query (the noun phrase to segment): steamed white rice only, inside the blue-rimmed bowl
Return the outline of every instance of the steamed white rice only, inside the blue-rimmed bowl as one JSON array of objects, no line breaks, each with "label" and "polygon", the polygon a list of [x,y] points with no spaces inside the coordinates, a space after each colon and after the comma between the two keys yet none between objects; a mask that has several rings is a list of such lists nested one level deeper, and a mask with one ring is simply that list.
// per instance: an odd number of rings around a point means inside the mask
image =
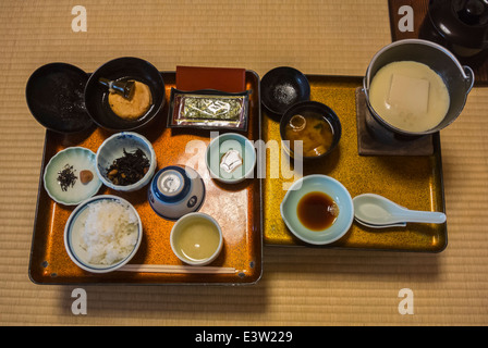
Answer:
[{"label": "steamed white rice only, inside the blue-rimmed bowl", "polygon": [[121,202],[101,200],[88,206],[81,247],[93,264],[110,265],[124,259],[137,243],[137,216]]}]

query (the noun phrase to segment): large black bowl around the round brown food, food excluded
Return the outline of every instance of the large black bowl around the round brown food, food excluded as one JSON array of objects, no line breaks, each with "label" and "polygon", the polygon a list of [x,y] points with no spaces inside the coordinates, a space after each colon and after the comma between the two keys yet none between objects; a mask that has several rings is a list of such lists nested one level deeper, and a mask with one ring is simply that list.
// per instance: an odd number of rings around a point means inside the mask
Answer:
[{"label": "large black bowl around the round brown food, food excluded", "polygon": [[[108,102],[108,87],[99,83],[105,77],[111,80],[135,79],[149,86],[152,105],[137,120],[119,117]],[[89,77],[85,88],[85,105],[95,123],[110,132],[134,130],[147,125],[164,104],[164,82],[161,73],[149,62],[123,57],[111,60],[98,67]]]}]

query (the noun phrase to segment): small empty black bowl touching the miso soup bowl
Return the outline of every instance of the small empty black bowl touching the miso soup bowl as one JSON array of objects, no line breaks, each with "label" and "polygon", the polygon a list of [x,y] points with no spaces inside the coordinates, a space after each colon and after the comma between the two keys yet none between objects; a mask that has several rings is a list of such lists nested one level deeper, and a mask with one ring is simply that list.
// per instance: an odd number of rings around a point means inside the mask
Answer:
[{"label": "small empty black bowl touching the miso soup bowl", "polygon": [[270,112],[282,115],[291,105],[310,98],[307,77],[294,67],[270,70],[261,78],[261,102]]}]

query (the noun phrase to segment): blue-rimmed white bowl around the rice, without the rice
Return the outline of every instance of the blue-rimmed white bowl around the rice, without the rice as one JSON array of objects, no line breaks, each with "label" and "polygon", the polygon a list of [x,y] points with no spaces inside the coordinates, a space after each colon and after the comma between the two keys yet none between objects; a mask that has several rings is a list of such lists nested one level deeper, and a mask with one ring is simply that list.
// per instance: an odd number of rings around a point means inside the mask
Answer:
[{"label": "blue-rimmed white bowl around the rice, without the rice", "polygon": [[[102,265],[102,264],[94,264],[88,262],[87,251],[82,248],[81,238],[83,236],[84,232],[84,224],[86,222],[87,215],[88,215],[88,207],[89,204],[102,201],[102,200],[111,200],[122,203],[123,206],[127,207],[129,210],[131,210],[135,217],[136,217],[136,225],[137,225],[137,236],[136,236],[136,243],[132,249],[132,251],[122,260],[110,264],[110,265]],[[134,209],[134,207],[126,201],[125,199],[122,199],[117,196],[112,195],[100,195],[91,197],[87,200],[85,200],[83,203],[81,203],[78,207],[76,207],[75,210],[71,213],[70,217],[68,219],[66,225],[64,227],[64,247],[66,248],[66,252],[70,256],[71,260],[78,265],[81,269],[91,272],[91,273],[108,273],[113,272],[124,264],[126,264],[137,252],[137,249],[141,246],[141,241],[143,239],[143,224],[141,222],[141,217],[137,213],[137,211]]]}]

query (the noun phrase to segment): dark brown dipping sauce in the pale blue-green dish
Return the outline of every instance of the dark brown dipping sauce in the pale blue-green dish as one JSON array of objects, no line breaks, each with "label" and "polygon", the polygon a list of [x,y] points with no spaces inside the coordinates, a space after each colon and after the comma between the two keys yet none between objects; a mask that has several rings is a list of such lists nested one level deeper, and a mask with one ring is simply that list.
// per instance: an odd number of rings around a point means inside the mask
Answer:
[{"label": "dark brown dipping sauce in the pale blue-green dish", "polygon": [[298,201],[300,222],[313,231],[330,227],[339,215],[339,207],[332,198],[319,191],[309,192]]}]

